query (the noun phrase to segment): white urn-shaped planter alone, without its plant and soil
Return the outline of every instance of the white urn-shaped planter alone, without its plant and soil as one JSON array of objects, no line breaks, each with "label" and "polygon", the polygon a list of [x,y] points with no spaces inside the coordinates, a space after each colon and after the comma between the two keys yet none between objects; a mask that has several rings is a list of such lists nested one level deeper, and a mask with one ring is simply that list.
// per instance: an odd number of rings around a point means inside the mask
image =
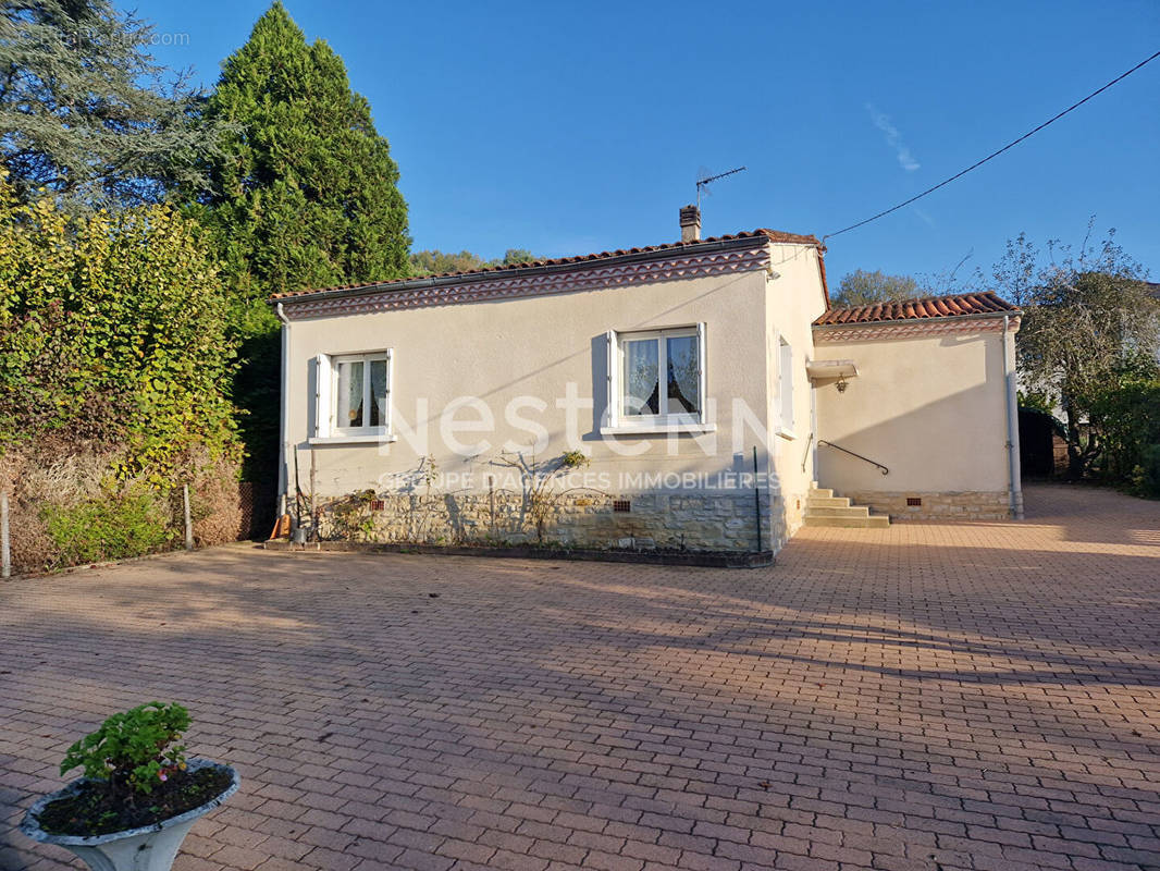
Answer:
[{"label": "white urn-shaped planter alone, without its plant and soil", "polygon": [[220,805],[238,791],[240,778],[238,772],[229,765],[223,765],[209,760],[190,760],[189,770],[196,771],[203,768],[217,768],[229,771],[232,783],[225,792],[212,801],[206,801],[201,807],[186,811],[183,814],[171,816],[168,820],[143,826],[137,829],[125,832],[110,832],[108,835],[93,835],[85,837],[81,835],[53,835],[41,828],[39,815],[50,801],[65,798],[75,792],[85,782],[84,778],[74,780],[58,792],[45,796],[28,813],[24,814],[20,823],[20,830],[34,841],[42,841],[46,844],[57,844],[66,850],[80,856],[93,871],[169,871],[173,859],[181,849],[181,842],[186,840],[189,829],[194,823],[215,807]]}]

